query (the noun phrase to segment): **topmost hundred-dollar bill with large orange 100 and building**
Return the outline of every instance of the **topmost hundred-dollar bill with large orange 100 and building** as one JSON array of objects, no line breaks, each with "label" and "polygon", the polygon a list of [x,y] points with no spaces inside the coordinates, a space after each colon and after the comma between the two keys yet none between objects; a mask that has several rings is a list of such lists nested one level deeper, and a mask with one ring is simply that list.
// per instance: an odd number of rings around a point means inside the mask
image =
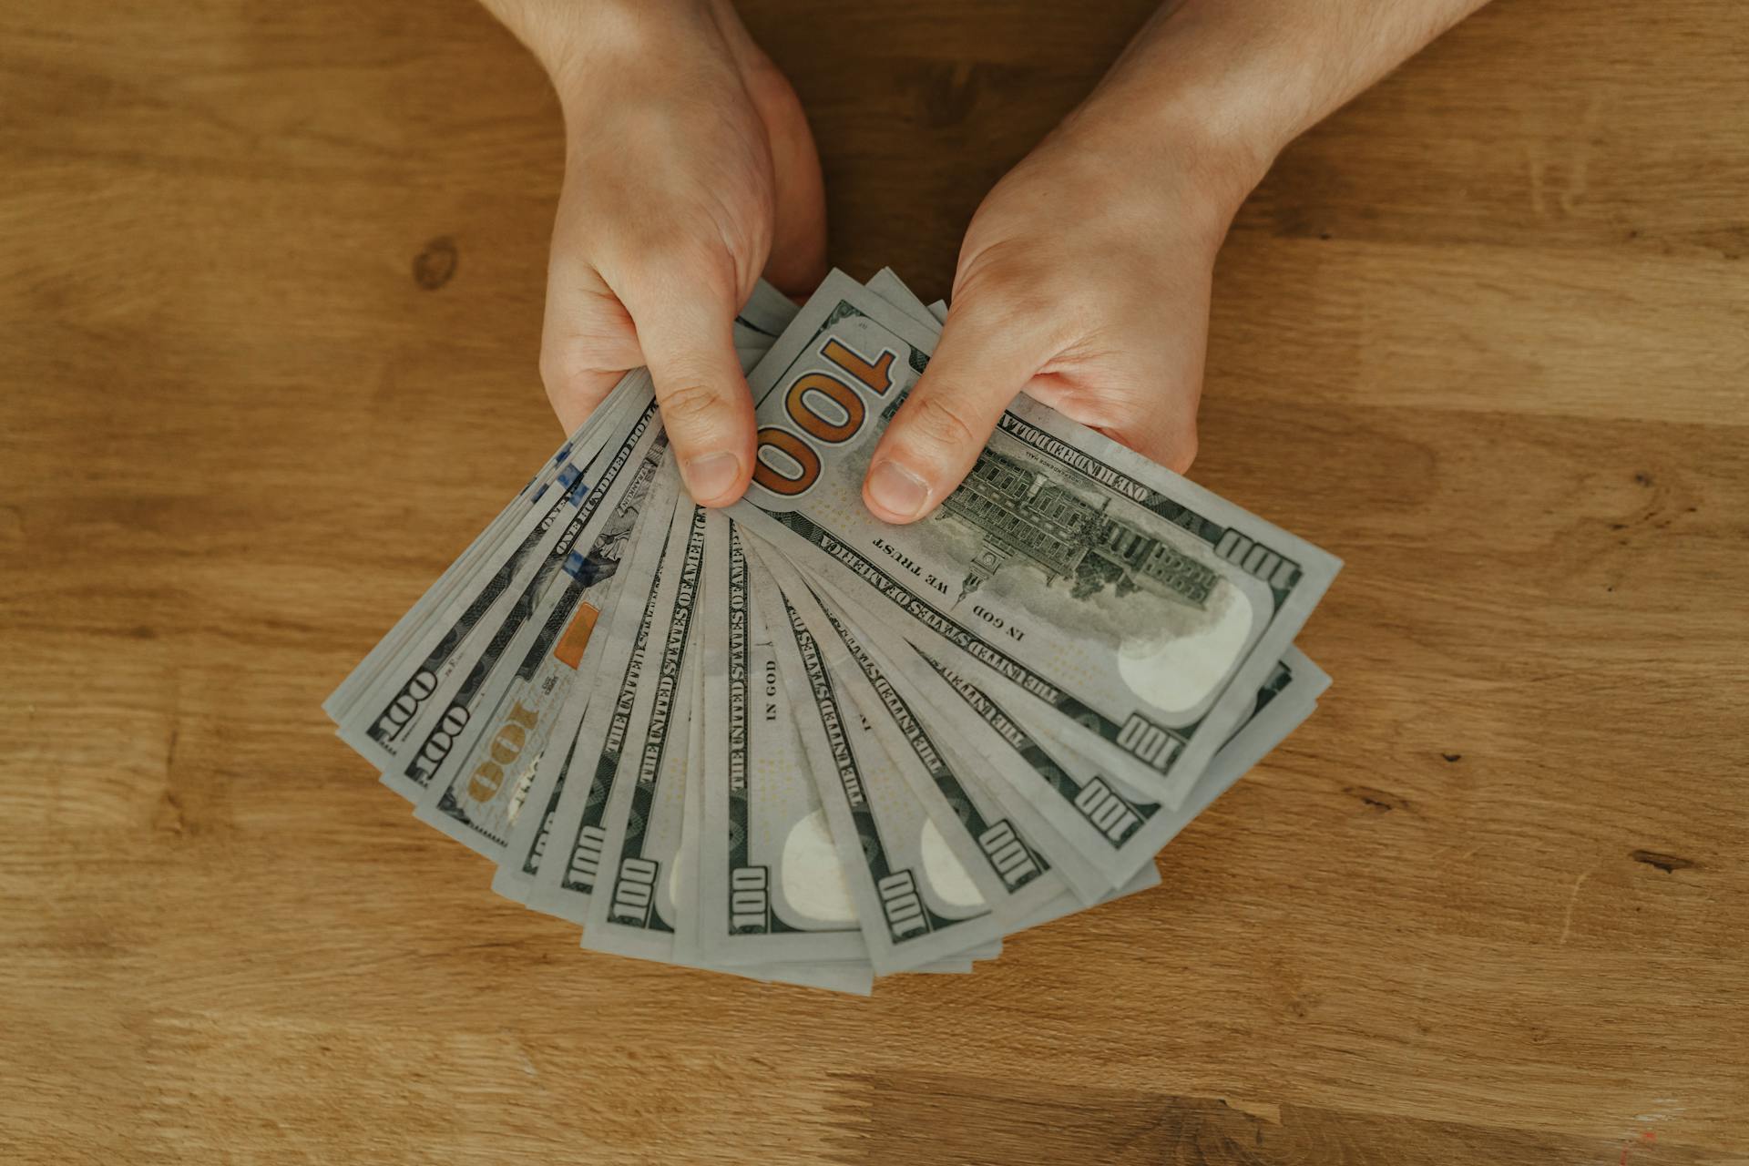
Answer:
[{"label": "topmost hundred-dollar bill with large orange 100 and building", "polygon": [[868,455],[932,346],[922,322],[829,276],[750,376],[759,463],[731,514],[1182,801],[1340,563],[1025,399],[936,516],[876,521]]}]

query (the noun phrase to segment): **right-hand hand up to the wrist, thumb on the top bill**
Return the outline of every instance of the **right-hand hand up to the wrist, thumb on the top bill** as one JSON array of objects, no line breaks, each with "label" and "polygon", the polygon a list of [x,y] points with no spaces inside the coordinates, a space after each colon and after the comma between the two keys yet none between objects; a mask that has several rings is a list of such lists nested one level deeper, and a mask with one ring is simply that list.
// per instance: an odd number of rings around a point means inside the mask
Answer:
[{"label": "right-hand hand up to the wrist, thumb on the top bill", "polygon": [[941,343],[869,460],[869,510],[934,510],[1020,392],[1189,468],[1214,257],[1256,177],[1205,135],[1091,101],[1065,121],[972,215]]}]

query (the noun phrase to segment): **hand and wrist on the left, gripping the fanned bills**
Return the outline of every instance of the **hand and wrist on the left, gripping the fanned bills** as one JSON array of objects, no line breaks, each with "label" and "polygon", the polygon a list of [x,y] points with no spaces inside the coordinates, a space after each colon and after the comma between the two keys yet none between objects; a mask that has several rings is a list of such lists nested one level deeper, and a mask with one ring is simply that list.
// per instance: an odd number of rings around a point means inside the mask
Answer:
[{"label": "hand and wrist on the left, gripping the fanned bills", "polygon": [[486,0],[565,110],[540,378],[565,430],[649,365],[701,505],[742,496],[754,406],[731,322],[761,271],[808,292],[826,199],[794,89],[728,0]]}]

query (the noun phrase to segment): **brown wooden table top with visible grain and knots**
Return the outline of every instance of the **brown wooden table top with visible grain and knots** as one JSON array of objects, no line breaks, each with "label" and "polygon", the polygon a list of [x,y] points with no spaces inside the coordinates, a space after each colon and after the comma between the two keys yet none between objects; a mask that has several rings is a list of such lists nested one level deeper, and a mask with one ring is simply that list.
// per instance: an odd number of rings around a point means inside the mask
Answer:
[{"label": "brown wooden table top with visible grain and knots", "polygon": [[[946,290],[1151,0],[749,3]],[[318,704],[556,444],[463,0],[0,17],[0,1159],[1749,1161],[1749,21],[1501,0],[1223,255],[1196,477],[1347,572],[1165,886],[873,1000],[582,953]]]}]

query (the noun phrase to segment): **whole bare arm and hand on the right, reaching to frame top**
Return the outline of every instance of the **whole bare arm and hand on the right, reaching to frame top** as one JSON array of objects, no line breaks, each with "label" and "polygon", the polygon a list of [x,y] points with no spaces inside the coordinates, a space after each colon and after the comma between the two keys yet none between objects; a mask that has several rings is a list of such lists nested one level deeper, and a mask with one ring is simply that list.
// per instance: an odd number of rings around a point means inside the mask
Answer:
[{"label": "whole bare arm and hand on the right, reaching to frame top", "polygon": [[1196,453],[1214,257],[1300,133],[1485,0],[1182,0],[972,217],[941,344],[869,465],[936,509],[1027,392],[1175,470]]}]

